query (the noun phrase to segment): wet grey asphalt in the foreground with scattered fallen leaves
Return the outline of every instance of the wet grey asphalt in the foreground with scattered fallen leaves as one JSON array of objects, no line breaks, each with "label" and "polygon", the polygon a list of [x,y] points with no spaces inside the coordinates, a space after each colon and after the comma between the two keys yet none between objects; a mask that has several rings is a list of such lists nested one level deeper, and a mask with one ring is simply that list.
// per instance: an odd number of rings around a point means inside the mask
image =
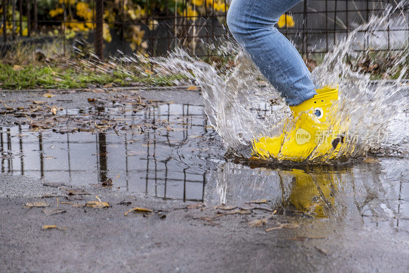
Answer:
[{"label": "wet grey asphalt in the foreground with scattered fallen leaves", "polygon": [[[150,95],[152,99],[186,99],[180,93]],[[87,98],[99,95],[66,96],[71,97],[70,102],[59,105],[69,108],[85,107]],[[15,94],[12,99],[17,103],[24,97]],[[190,97],[199,99],[198,95]],[[54,102],[59,103],[57,99]],[[44,185],[47,182],[55,184]],[[271,203],[242,200],[223,209],[213,203],[155,198],[98,184],[62,184],[29,175],[0,174],[0,271],[409,270],[409,232],[396,226],[379,228],[314,218],[283,212]],[[86,195],[69,195],[73,189]],[[110,206],[84,206],[98,200]],[[64,212],[47,216],[43,207],[25,207],[28,202],[40,201]],[[134,207],[152,212],[124,215]],[[44,229],[44,225],[58,229]]]}]

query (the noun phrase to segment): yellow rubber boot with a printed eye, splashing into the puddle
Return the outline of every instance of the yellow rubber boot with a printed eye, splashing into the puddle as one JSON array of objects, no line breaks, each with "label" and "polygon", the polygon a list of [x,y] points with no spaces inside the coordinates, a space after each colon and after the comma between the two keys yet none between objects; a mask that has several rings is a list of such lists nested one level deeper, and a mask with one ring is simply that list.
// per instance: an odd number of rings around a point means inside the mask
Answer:
[{"label": "yellow rubber boot with a printed eye, splashing into the puddle", "polygon": [[[303,161],[307,158],[332,158],[339,152],[339,124],[329,120],[338,89],[316,90],[317,95],[298,106],[290,107],[294,119],[280,136],[261,137],[253,143],[253,156],[267,159]],[[291,125],[292,124],[292,125]]]}]

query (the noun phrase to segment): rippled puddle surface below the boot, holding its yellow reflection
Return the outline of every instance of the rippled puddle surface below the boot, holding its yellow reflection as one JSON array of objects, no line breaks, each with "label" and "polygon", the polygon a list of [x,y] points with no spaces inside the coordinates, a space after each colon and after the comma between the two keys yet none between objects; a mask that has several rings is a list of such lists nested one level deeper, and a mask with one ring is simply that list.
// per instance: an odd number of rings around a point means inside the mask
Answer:
[{"label": "rippled puddle surface below the boot, holding its yellow reflection", "polygon": [[207,184],[205,198],[226,204],[267,199],[284,213],[409,227],[407,163],[390,158],[353,167],[273,170],[225,162],[214,176],[216,182]]}]

